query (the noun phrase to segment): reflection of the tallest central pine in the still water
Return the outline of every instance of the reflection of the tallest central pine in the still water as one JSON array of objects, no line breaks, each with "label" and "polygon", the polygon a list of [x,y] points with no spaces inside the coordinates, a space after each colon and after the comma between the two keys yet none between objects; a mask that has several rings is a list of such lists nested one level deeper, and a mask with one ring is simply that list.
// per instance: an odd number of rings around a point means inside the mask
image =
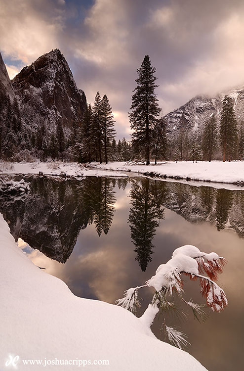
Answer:
[{"label": "reflection of the tallest central pine in the still water", "polygon": [[143,272],[147,265],[152,261],[153,237],[156,228],[159,226],[157,220],[158,209],[153,193],[150,190],[149,179],[142,181],[141,186],[133,184],[130,191],[131,209],[129,213],[129,223],[131,239],[136,246],[136,260]]}]

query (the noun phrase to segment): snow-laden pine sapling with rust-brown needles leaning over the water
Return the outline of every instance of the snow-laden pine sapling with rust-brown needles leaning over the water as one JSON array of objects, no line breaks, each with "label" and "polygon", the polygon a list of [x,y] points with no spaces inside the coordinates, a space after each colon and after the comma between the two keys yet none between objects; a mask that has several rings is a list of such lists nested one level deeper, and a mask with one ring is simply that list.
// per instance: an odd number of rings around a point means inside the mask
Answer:
[{"label": "snow-laden pine sapling with rust-brown needles leaning over the water", "polygon": [[[171,259],[166,264],[161,264],[158,267],[155,276],[146,281],[144,285],[126,290],[124,297],[117,300],[116,304],[135,314],[136,309],[140,307],[138,290],[143,287],[153,287],[155,291],[152,301],[140,317],[145,325],[151,327],[159,312],[165,314],[170,310],[177,311],[174,302],[170,301],[173,292],[192,309],[193,315],[198,321],[204,321],[206,315],[203,311],[203,305],[184,299],[181,275],[187,275],[192,280],[199,278],[201,293],[206,299],[206,304],[214,312],[220,312],[227,306],[228,301],[224,291],[215,281],[218,274],[222,273],[225,264],[226,260],[215,252],[207,254],[193,245],[181,246],[174,250]],[[186,336],[173,327],[167,326],[165,319],[162,329],[172,345],[179,348],[187,345]]]}]

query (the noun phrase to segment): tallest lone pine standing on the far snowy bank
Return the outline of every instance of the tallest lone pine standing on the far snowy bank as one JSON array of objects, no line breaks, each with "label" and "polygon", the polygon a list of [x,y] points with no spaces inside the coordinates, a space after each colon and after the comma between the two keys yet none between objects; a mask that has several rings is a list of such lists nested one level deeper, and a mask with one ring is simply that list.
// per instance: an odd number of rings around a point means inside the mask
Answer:
[{"label": "tallest lone pine standing on the far snowy bank", "polygon": [[150,150],[153,140],[153,129],[161,112],[155,89],[157,78],[154,76],[156,69],[152,67],[149,55],[137,70],[137,83],[132,95],[131,113],[129,114],[132,134],[132,145],[137,153],[143,153],[146,164],[150,164]]}]

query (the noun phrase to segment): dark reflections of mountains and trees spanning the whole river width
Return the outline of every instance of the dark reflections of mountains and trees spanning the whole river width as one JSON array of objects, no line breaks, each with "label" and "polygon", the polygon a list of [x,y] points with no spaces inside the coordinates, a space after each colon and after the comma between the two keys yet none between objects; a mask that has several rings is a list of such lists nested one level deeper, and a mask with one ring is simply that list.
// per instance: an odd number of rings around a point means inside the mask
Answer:
[{"label": "dark reflections of mountains and trees spanning the whole river width", "polygon": [[143,272],[152,261],[153,240],[164,219],[165,207],[190,222],[208,221],[218,231],[233,229],[244,236],[242,190],[196,187],[148,178],[89,177],[82,181],[27,178],[31,181],[31,193],[19,198],[1,198],[0,212],[16,240],[21,237],[58,262],[67,261],[80,230],[87,225],[93,224],[99,236],[108,234],[118,207],[116,186],[129,193],[127,222],[135,246],[135,260]]}]

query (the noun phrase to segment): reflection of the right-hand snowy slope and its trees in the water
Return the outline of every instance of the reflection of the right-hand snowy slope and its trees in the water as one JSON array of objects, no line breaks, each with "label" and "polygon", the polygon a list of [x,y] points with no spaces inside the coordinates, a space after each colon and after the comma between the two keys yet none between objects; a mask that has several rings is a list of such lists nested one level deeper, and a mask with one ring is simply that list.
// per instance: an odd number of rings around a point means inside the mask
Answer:
[{"label": "reflection of the right-hand snowy slope and its trees in the water", "polygon": [[189,222],[207,221],[218,230],[233,229],[244,237],[244,190],[231,191],[208,186],[167,183],[164,204]]}]

